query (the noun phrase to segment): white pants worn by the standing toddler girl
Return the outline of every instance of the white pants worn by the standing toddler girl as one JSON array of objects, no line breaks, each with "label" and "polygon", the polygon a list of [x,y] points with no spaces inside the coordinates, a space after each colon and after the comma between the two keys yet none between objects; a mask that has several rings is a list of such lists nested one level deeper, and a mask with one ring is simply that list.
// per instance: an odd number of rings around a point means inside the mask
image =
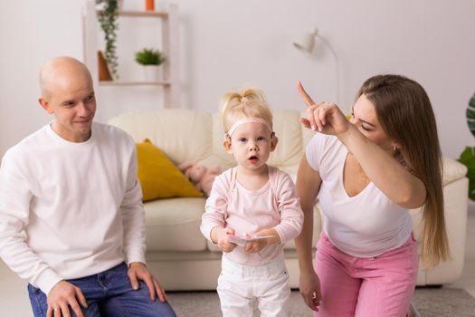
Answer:
[{"label": "white pants worn by the standing toddler girl", "polygon": [[283,258],[247,266],[223,256],[217,291],[223,317],[252,317],[255,301],[262,317],[289,316],[289,274]]}]

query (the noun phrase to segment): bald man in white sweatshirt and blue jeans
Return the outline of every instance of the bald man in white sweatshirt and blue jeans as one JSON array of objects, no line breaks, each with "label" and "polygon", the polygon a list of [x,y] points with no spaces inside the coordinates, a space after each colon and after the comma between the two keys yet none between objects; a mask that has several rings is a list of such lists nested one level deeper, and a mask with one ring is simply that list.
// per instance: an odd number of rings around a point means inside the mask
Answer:
[{"label": "bald man in white sweatshirt and blue jeans", "polygon": [[134,141],[93,122],[82,62],[47,62],[40,87],[54,119],[0,166],[0,256],[28,280],[34,316],[175,316],[145,265]]}]

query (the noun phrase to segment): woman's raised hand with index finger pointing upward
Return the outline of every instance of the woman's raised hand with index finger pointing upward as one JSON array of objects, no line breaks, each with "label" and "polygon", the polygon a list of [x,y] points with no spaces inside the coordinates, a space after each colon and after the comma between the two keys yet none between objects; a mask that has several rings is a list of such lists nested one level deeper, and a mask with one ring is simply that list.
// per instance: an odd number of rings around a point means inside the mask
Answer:
[{"label": "woman's raised hand with index finger pointing upward", "polygon": [[335,136],[347,132],[351,123],[335,103],[324,101],[315,103],[301,82],[297,84],[297,90],[302,100],[307,104],[309,113],[309,119],[300,118],[299,120],[305,128]]}]

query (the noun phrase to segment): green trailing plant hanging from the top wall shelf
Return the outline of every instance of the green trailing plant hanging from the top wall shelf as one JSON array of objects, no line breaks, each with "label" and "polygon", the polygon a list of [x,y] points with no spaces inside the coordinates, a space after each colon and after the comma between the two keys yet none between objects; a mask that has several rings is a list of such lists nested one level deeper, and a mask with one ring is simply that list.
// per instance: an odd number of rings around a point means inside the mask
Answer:
[{"label": "green trailing plant hanging from the top wall shelf", "polygon": [[96,5],[100,5],[98,20],[100,28],[104,32],[104,40],[106,42],[104,50],[106,62],[116,79],[119,79],[119,72],[117,71],[119,63],[116,53],[117,30],[119,29],[117,21],[119,17],[118,2],[118,0],[96,0]]}]

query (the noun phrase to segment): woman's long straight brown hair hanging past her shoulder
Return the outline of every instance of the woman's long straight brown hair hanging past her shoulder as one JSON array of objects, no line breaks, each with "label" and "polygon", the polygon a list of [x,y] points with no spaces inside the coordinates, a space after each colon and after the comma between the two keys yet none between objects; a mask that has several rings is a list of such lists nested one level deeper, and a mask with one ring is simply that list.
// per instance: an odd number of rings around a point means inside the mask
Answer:
[{"label": "woman's long straight brown hair hanging past her shoulder", "polygon": [[411,172],[423,181],[427,197],[423,210],[422,258],[432,267],[450,258],[442,193],[442,152],[431,101],[423,87],[400,75],[369,78],[357,93],[375,105],[376,115],[390,139],[401,145]]}]

